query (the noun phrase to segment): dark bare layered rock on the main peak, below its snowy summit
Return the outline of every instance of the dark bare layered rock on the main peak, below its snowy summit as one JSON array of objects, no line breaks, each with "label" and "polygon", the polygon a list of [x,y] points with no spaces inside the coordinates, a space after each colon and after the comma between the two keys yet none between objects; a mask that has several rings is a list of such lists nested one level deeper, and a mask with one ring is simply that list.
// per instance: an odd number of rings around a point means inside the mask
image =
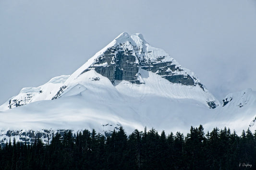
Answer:
[{"label": "dark bare layered rock on the main peak, below its snowy summit", "polygon": [[141,84],[138,80],[138,75],[139,68],[142,68],[156,73],[172,83],[190,86],[198,84],[205,90],[200,82],[195,82],[196,78],[188,74],[179,74],[183,69],[173,64],[172,61],[162,62],[166,56],[160,56],[156,60],[150,61],[150,59],[146,60],[145,57],[138,57],[138,51],[139,49],[136,46],[134,46],[134,50],[128,50],[124,44],[111,46],[102,56],[95,59],[93,65],[81,74],[94,69],[97,73],[110,79],[112,84],[114,84],[115,80],[127,80],[132,83]]}]

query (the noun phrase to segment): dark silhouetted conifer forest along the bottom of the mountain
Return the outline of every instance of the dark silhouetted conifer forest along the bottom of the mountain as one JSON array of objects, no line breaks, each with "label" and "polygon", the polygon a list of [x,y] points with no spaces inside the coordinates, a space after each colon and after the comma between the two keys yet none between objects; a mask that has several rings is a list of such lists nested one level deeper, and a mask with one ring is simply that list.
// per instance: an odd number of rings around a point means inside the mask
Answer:
[{"label": "dark silhouetted conifer forest along the bottom of the mountain", "polygon": [[[214,128],[205,135],[202,125],[184,136],[161,135],[152,128],[127,137],[120,127],[107,138],[84,130],[55,134],[44,145],[9,140],[0,148],[1,170],[236,170],[256,169],[256,132],[237,136],[230,129]],[[240,165],[240,167],[239,167]],[[244,167],[243,167],[244,165]]]}]

